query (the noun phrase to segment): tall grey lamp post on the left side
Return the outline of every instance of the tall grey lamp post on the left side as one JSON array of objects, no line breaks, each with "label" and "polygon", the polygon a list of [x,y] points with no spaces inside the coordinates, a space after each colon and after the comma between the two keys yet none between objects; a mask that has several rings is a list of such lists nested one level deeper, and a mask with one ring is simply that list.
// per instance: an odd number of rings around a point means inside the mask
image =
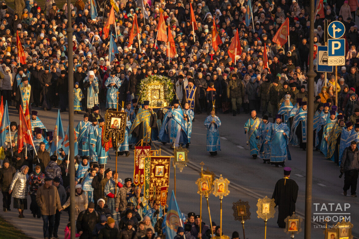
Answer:
[{"label": "tall grey lamp post on the left side", "polygon": [[74,29],[71,25],[71,1],[67,0],[67,60],[69,61],[68,80],[69,80],[69,161],[70,161],[70,218],[71,218],[71,239],[75,239],[76,225],[75,225],[75,135],[74,129],[74,60],[73,60],[73,42],[72,36]]}]

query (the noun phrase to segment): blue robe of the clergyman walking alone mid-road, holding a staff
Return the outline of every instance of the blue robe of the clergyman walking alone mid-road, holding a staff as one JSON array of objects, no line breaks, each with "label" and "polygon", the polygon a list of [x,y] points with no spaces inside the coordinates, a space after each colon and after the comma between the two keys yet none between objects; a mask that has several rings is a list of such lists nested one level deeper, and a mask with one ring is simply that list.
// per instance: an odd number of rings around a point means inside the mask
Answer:
[{"label": "blue robe of the clergyman walking alone mid-road, holding a staff", "polygon": [[[214,120],[214,124],[211,122]],[[204,125],[207,128],[207,140],[206,148],[209,152],[215,152],[221,150],[221,143],[219,141],[218,127],[221,126],[221,121],[218,116],[209,115],[204,121]]]}]

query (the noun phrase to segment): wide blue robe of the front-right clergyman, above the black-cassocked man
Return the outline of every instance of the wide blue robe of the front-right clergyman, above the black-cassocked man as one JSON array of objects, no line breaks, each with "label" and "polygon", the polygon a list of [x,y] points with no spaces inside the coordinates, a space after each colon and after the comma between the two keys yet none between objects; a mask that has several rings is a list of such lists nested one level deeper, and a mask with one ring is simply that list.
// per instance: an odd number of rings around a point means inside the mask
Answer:
[{"label": "wide blue robe of the front-right clergyman, above the black-cassocked man", "polygon": [[[284,136],[283,133],[286,135]],[[285,123],[274,123],[268,131],[266,140],[271,142],[270,162],[285,162],[290,159],[288,149],[289,128]]]}]

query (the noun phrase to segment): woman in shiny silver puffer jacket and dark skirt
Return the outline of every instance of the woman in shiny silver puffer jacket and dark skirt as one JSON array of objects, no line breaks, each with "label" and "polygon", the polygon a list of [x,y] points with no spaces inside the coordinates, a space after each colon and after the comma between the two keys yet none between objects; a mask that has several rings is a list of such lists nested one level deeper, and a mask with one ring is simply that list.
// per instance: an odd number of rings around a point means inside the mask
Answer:
[{"label": "woman in shiny silver puffer jacket and dark skirt", "polygon": [[24,218],[23,212],[27,209],[28,171],[28,166],[22,166],[20,171],[15,173],[9,190],[9,193],[13,193],[12,197],[14,198],[14,208],[18,209],[19,218]]}]

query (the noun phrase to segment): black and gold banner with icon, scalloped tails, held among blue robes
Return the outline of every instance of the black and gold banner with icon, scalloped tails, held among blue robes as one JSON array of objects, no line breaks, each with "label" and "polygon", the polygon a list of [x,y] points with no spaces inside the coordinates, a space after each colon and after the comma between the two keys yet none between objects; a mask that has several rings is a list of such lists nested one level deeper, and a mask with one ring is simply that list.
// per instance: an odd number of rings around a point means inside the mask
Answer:
[{"label": "black and gold banner with icon, scalloped tails, held among blue robes", "polygon": [[107,110],[105,114],[105,126],[102,135],[102,147],[112,139],[112,146],[117,150],[117,145],[125,140],[127,113]]}]

